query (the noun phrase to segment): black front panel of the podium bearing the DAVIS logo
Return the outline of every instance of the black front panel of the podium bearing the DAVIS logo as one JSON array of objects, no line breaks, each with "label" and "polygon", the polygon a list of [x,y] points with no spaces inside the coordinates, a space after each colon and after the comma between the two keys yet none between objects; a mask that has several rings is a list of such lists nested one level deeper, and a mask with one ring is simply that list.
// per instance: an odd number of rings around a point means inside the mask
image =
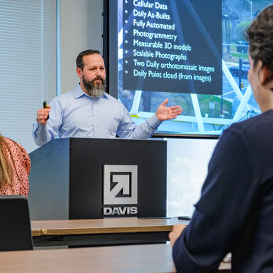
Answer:
[{"label": "black front panel of the podium bearing the DAVIS logo", "polygon": [[162,140],[70,138],[69,218],[165,217]]}]

